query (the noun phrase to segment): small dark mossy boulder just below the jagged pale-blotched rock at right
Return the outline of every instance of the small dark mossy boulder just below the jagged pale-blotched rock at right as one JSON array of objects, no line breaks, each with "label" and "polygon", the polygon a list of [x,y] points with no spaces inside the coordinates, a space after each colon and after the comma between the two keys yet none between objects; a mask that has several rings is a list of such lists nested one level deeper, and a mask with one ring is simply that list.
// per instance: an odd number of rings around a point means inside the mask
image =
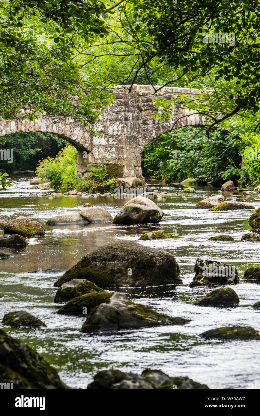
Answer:
[{"label": "small dark mossy boulder just below the jagged pale-blotched rock at right", "polygon": [[208,293],[203,299],[196,302],[199,306],[234,307],[238,306],[239,297],[230,287],[220,287]]}]

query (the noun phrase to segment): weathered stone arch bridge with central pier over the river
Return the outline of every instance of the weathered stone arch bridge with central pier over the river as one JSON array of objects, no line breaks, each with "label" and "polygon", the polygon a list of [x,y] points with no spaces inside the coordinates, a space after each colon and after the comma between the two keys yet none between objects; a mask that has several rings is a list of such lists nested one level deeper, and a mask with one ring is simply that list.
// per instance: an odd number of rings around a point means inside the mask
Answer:
[{"label": "weathered stone arch bridge with central pier over the river", "polygon": [[[204,120],[198,114],[190,114],[180,104],[175,105],[173,119],[162,122],[151,118],[156,109],[153,105],[154,89],[150,85],[117,85],[110,92],[115,100],[101,110],[97,122],[92,125],[97,134],[91,135],[87,129],[69,117],[42,115],[35,121],[23,122],[0,119],[0,136],[20,131],[42,131],[61,136],[80,149],[77,155],[76,173],[89,177],[88,166],[107,166],[110,177],[142,177],[141,153],[154,138],[171,129],[183,126],[203,126]],[[158,87],[157,87],[158,88]],[[190,88],[163,87],[157,97],[170,99],[182,94],[200,95],[200,90]],[[179,121],[173,127],[174,122]]]}]

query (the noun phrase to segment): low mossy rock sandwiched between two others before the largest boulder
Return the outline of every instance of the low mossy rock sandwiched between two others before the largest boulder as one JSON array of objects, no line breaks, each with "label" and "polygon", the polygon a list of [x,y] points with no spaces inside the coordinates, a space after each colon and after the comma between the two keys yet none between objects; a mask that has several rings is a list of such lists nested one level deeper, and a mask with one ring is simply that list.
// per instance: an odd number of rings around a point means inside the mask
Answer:
[{"label": "low mossy rock sandwiched between two others before the largest boulder", "polygon": [[100,303],[109,302],[112,293],[108,292],[93,292],[86,293],[85,295],[74,297],[70,302],[63,305],[58,310],[59,314],[65,315],[79,315],[90,313],[90,311]]}]

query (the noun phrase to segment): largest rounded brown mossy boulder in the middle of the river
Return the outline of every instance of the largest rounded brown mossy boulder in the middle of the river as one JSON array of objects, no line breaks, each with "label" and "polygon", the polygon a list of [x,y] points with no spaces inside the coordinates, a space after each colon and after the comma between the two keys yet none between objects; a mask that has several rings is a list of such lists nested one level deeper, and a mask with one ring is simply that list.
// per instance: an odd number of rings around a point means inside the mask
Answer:
[{"label": "largest rounded brown mossy boulder in the middle of the river", "polygon": [[54,285],[60,287],[72,279],[87,279],[102,289],[180,285],[179,275],[172,254],[134,241],[116,240],[87,254]]}]

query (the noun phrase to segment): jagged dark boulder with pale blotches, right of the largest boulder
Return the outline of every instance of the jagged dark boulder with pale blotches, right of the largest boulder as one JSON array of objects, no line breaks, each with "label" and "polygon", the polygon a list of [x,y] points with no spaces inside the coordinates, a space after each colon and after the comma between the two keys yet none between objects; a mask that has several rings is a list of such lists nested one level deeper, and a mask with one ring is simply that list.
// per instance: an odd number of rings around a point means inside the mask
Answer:
[{"label": "jagged dark boulder with pale blotches, right of the largest boulder", "polygon": [[239,282],[235,266],[206,258],[198,258],[194,267],[195,276],[190,287],[235,285]]}]

